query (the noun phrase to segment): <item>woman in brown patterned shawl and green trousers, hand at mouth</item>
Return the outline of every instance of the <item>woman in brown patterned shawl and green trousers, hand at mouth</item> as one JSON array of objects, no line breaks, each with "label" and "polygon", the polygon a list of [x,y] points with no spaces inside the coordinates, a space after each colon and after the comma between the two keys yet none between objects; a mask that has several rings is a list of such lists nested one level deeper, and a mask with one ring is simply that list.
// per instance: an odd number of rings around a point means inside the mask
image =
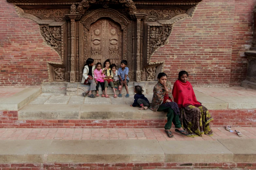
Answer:
[{"label": "woman in brown patterned shawl and green trousers, hand at mouth", "polygon": [[179,120],[179,107],[177,103],[173,102],[174,100],[171,93],[170,83],[167,83],[167,75],[165,73],[159,73],[157,78],[158,82],[154,86],[152,104],[149,109],[153,111],[167,112],[167,123],[165,124],[164,129],[168,137],[173,137],[173,134],[170,131],[172,122],[175,125],[176,132],[185,136],[190,135],[181,127]]}]

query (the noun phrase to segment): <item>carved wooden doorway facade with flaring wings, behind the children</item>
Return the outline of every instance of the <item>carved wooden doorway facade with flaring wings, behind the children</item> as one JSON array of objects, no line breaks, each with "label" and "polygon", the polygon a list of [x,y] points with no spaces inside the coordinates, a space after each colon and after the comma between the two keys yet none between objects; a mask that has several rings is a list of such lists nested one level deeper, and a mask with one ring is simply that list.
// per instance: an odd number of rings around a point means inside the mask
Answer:
[{"label": "carved wooden doorway facade with flaring wings, behind the children", "polygon": [[131,81],[155,81],[164,62],[151,56],[168,42],[172,25],[192,17],[201,0],[8,0],[20,17],[40,25],[61,63],[48,62],[49,81],[80,82],[88,58],[128,61]]}]

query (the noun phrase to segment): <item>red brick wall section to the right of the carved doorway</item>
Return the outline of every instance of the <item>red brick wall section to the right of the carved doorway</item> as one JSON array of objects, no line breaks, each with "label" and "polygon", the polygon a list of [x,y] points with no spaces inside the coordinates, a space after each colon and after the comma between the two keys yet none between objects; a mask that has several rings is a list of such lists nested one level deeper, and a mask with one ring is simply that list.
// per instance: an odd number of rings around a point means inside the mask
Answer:
[{"label": "red brick wall section to the right of the carved doorway", "polygon": [[[195,86],[240,85],[246,78],[256,0],[203,0],[193,18],[177,21],[169,43],[152,62],[165,61],[164,72],[174,82],[181,70]],[[160,58],[159,58],[160,56]]]}]

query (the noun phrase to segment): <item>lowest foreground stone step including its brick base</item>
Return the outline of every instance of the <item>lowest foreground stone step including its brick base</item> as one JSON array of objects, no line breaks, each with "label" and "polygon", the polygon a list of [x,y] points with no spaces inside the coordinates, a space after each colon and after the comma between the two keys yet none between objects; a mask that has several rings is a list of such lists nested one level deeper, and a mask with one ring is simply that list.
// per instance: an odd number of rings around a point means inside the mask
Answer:
[{"label": "lowest foreground stone step including its brick base", "polygon": [[[189,137],[187,137],[189,138]],[[256,139],[0,140],[0,167],[26,169],[255,168]],[[101,167],[101,168],[100,168]]]}]

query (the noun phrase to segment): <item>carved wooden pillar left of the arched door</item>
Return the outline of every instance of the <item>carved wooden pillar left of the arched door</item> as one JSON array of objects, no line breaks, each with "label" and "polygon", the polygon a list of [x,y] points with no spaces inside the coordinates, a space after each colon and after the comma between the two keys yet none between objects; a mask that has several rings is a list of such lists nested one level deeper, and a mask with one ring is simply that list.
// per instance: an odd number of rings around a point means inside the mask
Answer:
[{"label": "carved wooden pillar left of the arched door", "polygon": [[[82,15],[76,14],[76,6],[73,4],[71,6],[70,14],[66,15],[70,19],[70,46],[71,46],[71,54],[70,54],[70,82],[75,83],[76,82],[76,68],[75,68],[75,55],[76,55],[76,49],[75,49],[75,30],[76,30],[76,20],[79,20]],[[78,29],[78,28],[77,28]]]}]

